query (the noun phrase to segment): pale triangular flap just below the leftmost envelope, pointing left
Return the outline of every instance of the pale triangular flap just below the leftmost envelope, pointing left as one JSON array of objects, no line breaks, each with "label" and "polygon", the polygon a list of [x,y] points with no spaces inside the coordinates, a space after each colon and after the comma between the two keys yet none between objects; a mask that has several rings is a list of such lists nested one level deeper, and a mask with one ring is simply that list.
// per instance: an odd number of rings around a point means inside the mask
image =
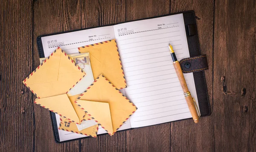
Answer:
[{"label": "pale triangular flap just below the leftmost envelope, pointing left", "polygon": [[79,117],[76,114],[66,94],[36,99],[35,103],[79,124]]}]

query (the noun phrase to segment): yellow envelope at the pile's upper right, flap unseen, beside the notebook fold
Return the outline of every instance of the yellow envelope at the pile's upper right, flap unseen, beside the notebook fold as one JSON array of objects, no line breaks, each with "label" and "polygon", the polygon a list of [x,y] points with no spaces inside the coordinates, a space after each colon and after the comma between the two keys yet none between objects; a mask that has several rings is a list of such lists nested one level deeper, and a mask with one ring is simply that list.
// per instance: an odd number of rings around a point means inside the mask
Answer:
[{"label": "yellow envelope at the pile's upper right, flap unseen, beside the notebook fold", "polygon": [[78,49],[80,53],[90,52],[94,79],[103,74],[117,89],[127,87],[115,39]]}]

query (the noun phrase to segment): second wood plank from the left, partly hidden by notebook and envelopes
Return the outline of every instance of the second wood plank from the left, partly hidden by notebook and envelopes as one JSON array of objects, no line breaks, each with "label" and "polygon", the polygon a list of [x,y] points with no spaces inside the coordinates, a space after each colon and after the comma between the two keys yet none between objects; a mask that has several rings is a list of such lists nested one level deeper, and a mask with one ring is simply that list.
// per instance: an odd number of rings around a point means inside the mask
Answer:
[{"label": "second wood plank from the left, partly hidden by notebook and envelopes", "polygon": [[[39,65],[36,37],[81,28],[81,1],[40,0],[34,4],[34,64]],[[54,48],[53,48],[54,49]],[[32,101],[31,101],[32,102]],[[79,140],[55,143],[49,110],[34,104],[35,151],[79,151]],[[47,145],[47,146],[46,146]]]}]

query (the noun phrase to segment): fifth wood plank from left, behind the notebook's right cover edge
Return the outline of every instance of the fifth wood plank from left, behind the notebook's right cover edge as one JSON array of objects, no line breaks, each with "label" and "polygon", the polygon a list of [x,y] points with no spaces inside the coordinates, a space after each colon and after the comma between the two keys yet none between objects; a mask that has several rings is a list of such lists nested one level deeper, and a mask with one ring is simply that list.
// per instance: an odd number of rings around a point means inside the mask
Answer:
[{"label": "fifth wood plank from left, behind the notebook's right cover edge", "polygon": [[[212,106],[212,35],[214,0],[171,0],[171,12],[194,10],[197,16],[201,53],[207,55],[209,70],[205,71],[209,100]],[[172,151],[209,152],[214,150],[212,116],[201,117],[198,124],[192,119],[171,124]],[[182,129],[183,128],[183,129]],[[182,130],[181,130],[182,129]]]}]

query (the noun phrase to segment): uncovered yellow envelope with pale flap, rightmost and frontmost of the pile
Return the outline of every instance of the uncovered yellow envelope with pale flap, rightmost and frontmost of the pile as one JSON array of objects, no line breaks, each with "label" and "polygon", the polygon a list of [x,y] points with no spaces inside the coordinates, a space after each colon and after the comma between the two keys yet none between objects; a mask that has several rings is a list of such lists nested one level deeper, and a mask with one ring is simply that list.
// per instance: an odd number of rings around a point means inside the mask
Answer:
[{"label": "uncovered yellow envelope with pale flap, rightmost and frontmost of the pile", "polygon": [[110,135],[137,110],[137,107],[103,75],[100,75],[75,102]]}]

